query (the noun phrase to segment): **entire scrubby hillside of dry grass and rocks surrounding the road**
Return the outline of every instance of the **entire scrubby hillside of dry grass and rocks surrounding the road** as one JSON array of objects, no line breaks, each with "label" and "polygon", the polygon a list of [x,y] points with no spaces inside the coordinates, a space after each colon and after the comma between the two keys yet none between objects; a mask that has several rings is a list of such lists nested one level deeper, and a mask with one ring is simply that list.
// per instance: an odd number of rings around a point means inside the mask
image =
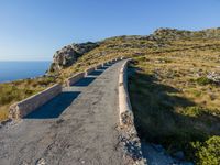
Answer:
[{"label": "entire scrubby hillside of dry grass and rocks surrounding the road", "polygon": [[57,51],[51,72],[0,85],[0,119],[9,106],[113,57],[131,64],[129,89],[140,136],[198,164],[220,164],[220,29],[158,29]]}]

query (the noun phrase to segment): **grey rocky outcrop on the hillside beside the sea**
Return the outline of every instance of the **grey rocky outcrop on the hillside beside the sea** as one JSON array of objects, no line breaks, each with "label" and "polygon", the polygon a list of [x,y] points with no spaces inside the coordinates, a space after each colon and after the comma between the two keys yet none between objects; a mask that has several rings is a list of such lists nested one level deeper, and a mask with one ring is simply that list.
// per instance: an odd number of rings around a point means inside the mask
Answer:
[{"label": "grey rocky outcrop on the hillside beside the sea", "polygon": [[58,72],[62,68],[72,66],[78,59],[78,57],[96,48],[97,46],[97,43],[91,42],[64,46],[54,54],[50,72]]}]

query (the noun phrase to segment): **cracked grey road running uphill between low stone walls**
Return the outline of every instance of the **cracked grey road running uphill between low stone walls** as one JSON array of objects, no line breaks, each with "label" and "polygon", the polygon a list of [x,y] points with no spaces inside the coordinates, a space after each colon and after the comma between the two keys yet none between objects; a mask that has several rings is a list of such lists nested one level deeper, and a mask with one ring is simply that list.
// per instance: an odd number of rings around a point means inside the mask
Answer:
[{"label": "cracked grey road running uphill between low stone walls", "polygon": [[18,123],[0,129],[0,165],[125,164],[117,130],[122,66],[94,72]]}]

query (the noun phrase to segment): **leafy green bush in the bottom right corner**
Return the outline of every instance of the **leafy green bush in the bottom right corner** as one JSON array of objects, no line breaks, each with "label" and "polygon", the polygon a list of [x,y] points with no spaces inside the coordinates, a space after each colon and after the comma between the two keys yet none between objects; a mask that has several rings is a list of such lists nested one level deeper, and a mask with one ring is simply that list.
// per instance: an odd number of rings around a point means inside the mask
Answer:
[{"label": "leafy green bush in the bottom right corner", "polygon": [[219,165],[220,164],[220,136],[211,136],[205,143],[193,143],[196,151],[198,165]]}]

